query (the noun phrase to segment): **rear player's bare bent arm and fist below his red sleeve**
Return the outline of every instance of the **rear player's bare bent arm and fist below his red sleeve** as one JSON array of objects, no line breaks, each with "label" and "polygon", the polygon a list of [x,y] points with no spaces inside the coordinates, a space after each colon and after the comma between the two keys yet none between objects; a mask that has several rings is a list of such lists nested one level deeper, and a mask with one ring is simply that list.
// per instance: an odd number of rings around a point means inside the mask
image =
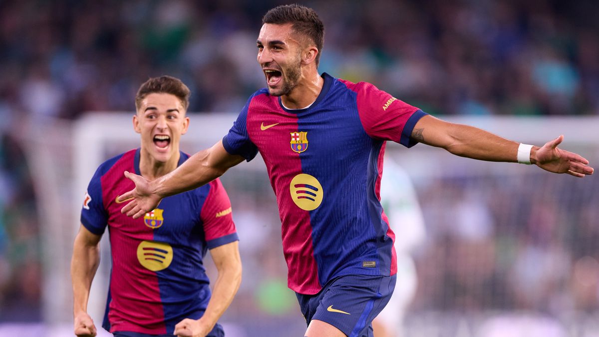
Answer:
[{"label": "rear player's bare bent arm and fist below his red sleeve", "polygon": [[238,241],[226,243],[210,249],[212,260],[216,264],[218,277],[204,315],[199,320],[185,318],[175,326],[177,336],[204,337],[212,331],[214,325],[231,305],[233,297],[241,284],[241,258]]}]

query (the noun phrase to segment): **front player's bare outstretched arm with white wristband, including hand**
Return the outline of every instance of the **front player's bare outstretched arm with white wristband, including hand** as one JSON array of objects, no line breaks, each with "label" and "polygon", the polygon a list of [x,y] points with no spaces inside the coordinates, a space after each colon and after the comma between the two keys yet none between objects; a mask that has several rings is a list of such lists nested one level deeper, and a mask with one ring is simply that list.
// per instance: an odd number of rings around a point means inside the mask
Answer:
[{"label": "front player's bare outstretched arm with white wristband, including hand", "polygon": [[[518,161],[519,143],[468,125],[453,124],[433,116],[424,116],[415,125],[412,138],[427,145],[446,149],[452,154],[486,161]],[[575,177],[592,174],[589,161],[580,155],[558,149],[564,136],[545,145],[533,146],[530,162],[553,173],[568,173]]]}]

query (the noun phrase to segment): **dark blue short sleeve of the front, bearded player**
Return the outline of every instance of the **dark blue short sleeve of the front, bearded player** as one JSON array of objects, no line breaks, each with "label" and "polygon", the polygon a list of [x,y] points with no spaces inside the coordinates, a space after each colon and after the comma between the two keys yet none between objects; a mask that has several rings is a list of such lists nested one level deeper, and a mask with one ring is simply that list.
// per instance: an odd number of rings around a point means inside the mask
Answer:
[{"label": "dark blue short sleeve of the front, bearded player", "polygon": [[243,107],[237,121],[233,123],[233,127],[229,130],[229,133],[223,138],[223,146],[225,150],[232,155],[240,155],[246,158],[247,161],[252,160],[258,154],[258,147],[250,140],[250,136],[247,133],[247,112],[252,103],[252,98],[256,94],[247,100],[246,106]]}]

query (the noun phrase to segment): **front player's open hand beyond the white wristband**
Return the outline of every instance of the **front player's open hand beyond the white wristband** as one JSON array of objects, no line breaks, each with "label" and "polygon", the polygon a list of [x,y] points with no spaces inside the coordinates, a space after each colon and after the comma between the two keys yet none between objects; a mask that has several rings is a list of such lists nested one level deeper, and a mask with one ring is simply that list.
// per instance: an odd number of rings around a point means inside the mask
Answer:
[{"label": "front player's open hand beyond the white wristband", "polygon": [[562,140],[564,140],[564,135],[545,143],[537,150],[534,156],[537,166],[546,171],[568,173],[575,177],[593,174],[594,169],[588,166],[588,160],[580,155],[557,148]]}]

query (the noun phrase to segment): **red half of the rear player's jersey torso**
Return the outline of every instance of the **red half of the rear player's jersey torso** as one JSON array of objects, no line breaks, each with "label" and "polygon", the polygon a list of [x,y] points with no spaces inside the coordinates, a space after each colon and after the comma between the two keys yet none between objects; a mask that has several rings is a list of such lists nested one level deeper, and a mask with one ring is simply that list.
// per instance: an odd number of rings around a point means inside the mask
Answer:
[{"label": "red half of the rear player's jersey torso", "polygon": [[[112,300],[108,311],[110,331],[140,333],[166,333],[164,311],[156,272],[141,266],[137,258],[138,240],[153,240],[153,230],[143,218],[133,219],[120,213],[122,203],[117,195],[135,187],[123,172],[134,172],[135,150],[129,151],[101,177],[104,208],[110,224],[112,272],[110,293]],[[127,299],[136,299],[135,301]],[[123,299],[119,301],[119,299]],[[146,305],[135,305],[144,302]]]}]

